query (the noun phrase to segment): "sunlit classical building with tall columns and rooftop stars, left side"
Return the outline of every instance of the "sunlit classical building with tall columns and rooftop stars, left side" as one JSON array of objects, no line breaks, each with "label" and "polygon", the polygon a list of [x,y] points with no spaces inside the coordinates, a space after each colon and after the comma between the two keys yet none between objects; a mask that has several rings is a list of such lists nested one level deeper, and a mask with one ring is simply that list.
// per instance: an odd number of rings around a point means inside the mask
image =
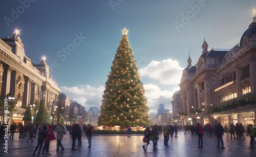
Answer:
[{"label": "sunlit classical building with tall columns and rooftop stars, left side", "polygon": [[16,112],[10,113],[9,124],[12,121],[22,122],[25,113],[25,109],[20,108],[22,104],[29,106],[37,103],[40,105],[40,101],[43,100],[47,110],[53,114],[59,93],[60,89],[49,73],[46,58],[42,58],[38,64],[33,64],[25,54],[18,32],[13,34],[12,38],[0,39],[1,99],[4,101],[9,94],[17,101]]}]

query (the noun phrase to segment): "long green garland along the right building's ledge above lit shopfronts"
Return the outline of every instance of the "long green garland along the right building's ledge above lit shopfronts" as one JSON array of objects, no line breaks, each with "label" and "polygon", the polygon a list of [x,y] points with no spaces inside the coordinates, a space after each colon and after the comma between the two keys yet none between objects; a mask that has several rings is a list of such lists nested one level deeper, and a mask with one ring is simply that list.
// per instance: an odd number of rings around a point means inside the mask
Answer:
[{"label": "long green garland along the right building's ledge above lit shopfronts", "polygon": [[208,113],[215,113],[215,112],[221,112],[226,111],[229,109],[234,109],[238,106],[246,106],[247,104],[256,104],[256,96],[252,97],[242,97],[239,100],[232,100],[225,103],[221,103],[217,106],[211,107]]}]

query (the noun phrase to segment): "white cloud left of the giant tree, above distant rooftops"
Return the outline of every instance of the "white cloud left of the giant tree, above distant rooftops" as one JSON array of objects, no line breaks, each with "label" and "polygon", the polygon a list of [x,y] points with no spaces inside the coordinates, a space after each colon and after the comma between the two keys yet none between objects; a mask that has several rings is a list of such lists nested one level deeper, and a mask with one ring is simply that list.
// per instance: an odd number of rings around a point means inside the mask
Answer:
[{"label": "white cloud left of the giant tree, above distant rooftops", "polygon": [[[90,85],[79,87],[60,87],[61,92],[69,96],[71,100],[75,100],[86,107],[100,106],[104,87],[94,88]],[[97,104],[98,102],[98,104]]]}]

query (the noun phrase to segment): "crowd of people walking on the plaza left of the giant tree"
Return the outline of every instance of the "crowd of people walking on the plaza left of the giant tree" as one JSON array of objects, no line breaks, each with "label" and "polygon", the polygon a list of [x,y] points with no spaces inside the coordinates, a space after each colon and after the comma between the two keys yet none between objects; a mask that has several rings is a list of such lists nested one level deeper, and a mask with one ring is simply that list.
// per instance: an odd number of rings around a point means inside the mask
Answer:
[{"label": "crowd of people walking on the plaza left of the giant tree", "polygon": [[[6,124],[3,124],[0,129],[0,137],[1,141],[4,140],[4,134],[6,129]],[[88,125],[79,125],[79,124],[72,124],[72,125],[62,125],[61,123],[58,123],[58,125],[39,125],[36,129],[36,126],[32,123],[25,124],[25,127],[23,123],[19,123],[18,126],[16,126],[15,123],[13,123],[10,126],[10,139],[13,139],[15,131],[19,133],[19,139],[26,137],[26,133],[29,133],[29,140],[33,142],[33,138],[37,137],[37,145],[35,147],[35,150],[33,152],[33,155],[40,154],[42,149],[42,154],[49,155],[49,145],[50,141],[57,140],[57,149],[56,151],[59,151],[59,147],[61,148],[61,151],[64,151],[65,148],[61,144],[61,140],[64,135],[67,134],[67,132],[70,132],[70,137],[72,138],[72,149],[71,150],[77,150],[75,148],[75,141],[77,139],[78,141],[78,147],[82,145],[81,137],[86,136],[88,139],[89,148],[92,146],[92,133],[93,129],[90,124]],[[43,146],[43,143],[45,141],[45,145]]]}]

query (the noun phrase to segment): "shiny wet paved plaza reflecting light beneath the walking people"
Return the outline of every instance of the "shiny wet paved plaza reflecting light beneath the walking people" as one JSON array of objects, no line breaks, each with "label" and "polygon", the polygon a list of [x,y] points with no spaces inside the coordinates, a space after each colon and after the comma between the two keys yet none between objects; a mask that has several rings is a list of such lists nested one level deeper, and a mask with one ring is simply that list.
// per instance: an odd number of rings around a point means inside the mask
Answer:
[{"label": "shiny wet paved plaza reflecting light beneath the walking people", "polygon": [[[68,132],[69,134],[69,132]],[[141,135],[132,135],[128,138],[124,135],[94,135],[92,137],[92,147],[88,148],[87,138],[82,137],[82,146],[76,148],[78,150],[72,151],[72,140],[69,135],[65,135],[61,143],[65,147],[65,151],[56,152],[56,140],[50,142],[49,156],[92,156],[92,157],[127,157],[127,156],[256,156],[256,149],[250,149],[250,137],[245,135],[245,140],[230,139],[230,134],[225,133],[223,136],[225,149],[216,148],[216,136],[209,137],[206,134],[203,136],[203,148],[198,148],[198,136],[191,136],[187,132],[178,133],[178,138],[170,139],[169,147],[163,145],[163,136],[158,140],[158,150],[153,151],[153,144],[148,146],[147,152],[144,152],[142,145],[144,144]],[[8,139],[8,154],[3,151],[3,144],[1,144],[0,156],[32,156],[36,147],[37,139],[34,138],[33,143],[28,142],[28,137],[18,139],[18,133],[14,134],[14,139]],[[37,153],[37,152],[36,152]],[[47,155],[37,155],[47,156]]]}]

